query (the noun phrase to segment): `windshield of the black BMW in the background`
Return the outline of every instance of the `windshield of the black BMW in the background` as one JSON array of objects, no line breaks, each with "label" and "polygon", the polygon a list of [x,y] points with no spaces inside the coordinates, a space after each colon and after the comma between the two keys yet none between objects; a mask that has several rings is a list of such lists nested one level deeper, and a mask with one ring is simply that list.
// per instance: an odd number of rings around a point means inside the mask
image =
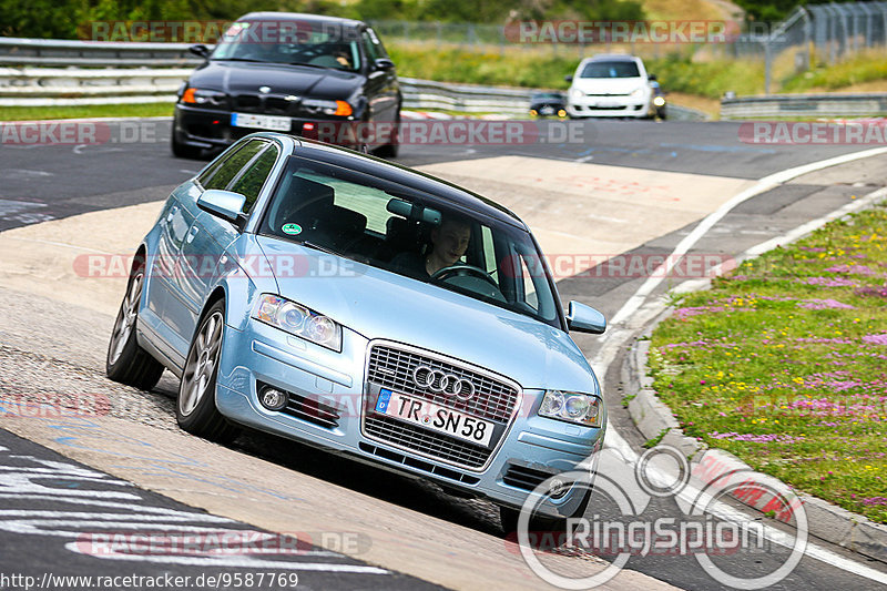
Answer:
[{"label": "windshield of the black BMW in the background", "polygon": [[235,22],[213,51],[213,60],[288,63],[360,70],[357,34],[343,28],[297,21]]}]

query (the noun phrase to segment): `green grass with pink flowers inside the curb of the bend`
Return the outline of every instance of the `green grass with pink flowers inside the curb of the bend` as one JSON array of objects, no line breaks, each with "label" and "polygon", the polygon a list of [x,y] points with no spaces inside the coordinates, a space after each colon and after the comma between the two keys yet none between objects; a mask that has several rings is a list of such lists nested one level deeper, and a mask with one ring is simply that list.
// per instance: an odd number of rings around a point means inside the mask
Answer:
[{"label": "green grass with pink flowers inside the curb of the bend", "polygon": [[887,523],[887,207],[686,296],[653,333],[654,389],[690,436]]}]

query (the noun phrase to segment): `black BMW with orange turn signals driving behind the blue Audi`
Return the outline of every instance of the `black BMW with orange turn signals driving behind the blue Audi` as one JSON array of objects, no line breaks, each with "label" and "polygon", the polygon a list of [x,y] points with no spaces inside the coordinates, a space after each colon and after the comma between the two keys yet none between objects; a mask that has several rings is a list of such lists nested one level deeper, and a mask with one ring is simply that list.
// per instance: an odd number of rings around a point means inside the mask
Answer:
[{"label": "black BMW with orange turn signals driving behind the blue Audi", "polygon": [[[366,23],[251,12],[212,51],[191,51],[206,61],[179,91],[176,156],[215,152],[257,130],[397,155],[402,99],[395,64]],[[353,133],[329,133],[330,125]]]}]

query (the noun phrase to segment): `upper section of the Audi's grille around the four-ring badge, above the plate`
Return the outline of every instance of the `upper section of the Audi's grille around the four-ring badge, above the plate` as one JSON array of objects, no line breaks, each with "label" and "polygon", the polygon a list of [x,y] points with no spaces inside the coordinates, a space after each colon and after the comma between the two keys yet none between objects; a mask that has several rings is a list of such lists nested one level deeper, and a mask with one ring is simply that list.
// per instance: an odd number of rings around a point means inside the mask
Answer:
[{"label": "upper section of the Audi's grille around the four-ring badge, above the plate", "polygon": [[[475,385],[475,396],[463,401],[418,387],[412,381],[412,371],[421,365],[470,380]],[[518,401],[518,390],[509,384],[434,357],[388,346],[373,347],[367,379],[384,388],[425,398],[496,422],[508,422]]]}]

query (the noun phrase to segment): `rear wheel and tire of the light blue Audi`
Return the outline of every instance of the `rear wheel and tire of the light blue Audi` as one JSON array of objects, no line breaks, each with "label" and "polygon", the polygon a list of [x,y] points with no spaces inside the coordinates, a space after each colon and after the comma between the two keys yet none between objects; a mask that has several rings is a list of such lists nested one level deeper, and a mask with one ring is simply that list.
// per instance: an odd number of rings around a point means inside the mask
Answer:
[{"label": "rear wheel and tire of the light blue Audi", "polygon": [[157,385],[163,374],[163,365],[140,347],[135,337],[144,277],[144,262],[136,258],[126,284],[126,295],[120,304],[120,312],[111,332],[104,369],[108,377],[114,381],[150,390]]}]

